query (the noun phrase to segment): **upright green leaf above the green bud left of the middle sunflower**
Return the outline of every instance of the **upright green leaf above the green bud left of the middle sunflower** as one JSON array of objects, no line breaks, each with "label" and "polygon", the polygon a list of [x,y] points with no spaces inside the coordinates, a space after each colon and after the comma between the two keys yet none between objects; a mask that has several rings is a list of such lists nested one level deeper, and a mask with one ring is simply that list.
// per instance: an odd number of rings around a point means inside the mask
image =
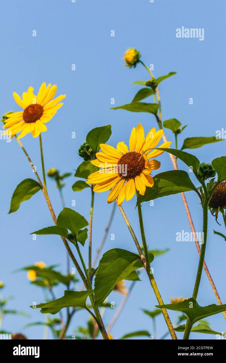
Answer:
[{"label": "upright green leaf above the green bud left of the middle sunflower", "polygon": [[100,150],[100,144],[105,144],[111,136],[111,125],[95,127],[86,136],[86,142],[93,152]]}]

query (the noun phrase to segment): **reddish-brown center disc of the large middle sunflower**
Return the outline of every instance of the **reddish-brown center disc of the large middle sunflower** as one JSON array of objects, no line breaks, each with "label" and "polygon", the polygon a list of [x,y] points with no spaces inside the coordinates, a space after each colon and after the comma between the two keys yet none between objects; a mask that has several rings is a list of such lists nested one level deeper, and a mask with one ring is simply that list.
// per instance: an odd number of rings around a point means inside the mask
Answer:
[{"label": "reddish-brown center disc of the large middle sunflower", "polygon": [[128,180],[140,175],[144,167],[145,160],[139,152],[127,152],[118,161],[118,174]]}]

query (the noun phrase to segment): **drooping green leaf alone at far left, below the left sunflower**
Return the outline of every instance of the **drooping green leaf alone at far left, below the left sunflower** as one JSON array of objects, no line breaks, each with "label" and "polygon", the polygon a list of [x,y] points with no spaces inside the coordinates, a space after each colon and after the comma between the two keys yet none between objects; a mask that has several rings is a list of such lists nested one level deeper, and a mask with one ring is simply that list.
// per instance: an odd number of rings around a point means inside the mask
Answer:
[{"label": "drooping green leaf alone at far left, below the left sunflower", "polygon": [[40,189],[41,185],[33,179],[21,181],[13,193],[9,213],[16,212],[23,201],[30,199]]}]

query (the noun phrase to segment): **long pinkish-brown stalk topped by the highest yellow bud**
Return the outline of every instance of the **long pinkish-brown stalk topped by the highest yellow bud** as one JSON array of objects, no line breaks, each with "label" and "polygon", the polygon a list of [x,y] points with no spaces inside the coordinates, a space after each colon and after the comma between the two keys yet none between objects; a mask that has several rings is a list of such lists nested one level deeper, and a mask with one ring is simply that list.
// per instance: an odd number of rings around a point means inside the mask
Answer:
[{"label": "long pinkish-brown stalk topped by the highest yellow bud", "polygon": [[[145,69],[148,70],[149,74],[151,74],[152,77],[153,76],[153,73],[151,72],[151,70],[149,70],[149,68],[147,67],[147,65],[145,65],[143,62],[140,61],[141,64],[143,64],[143,66],[145,67]],[[156,116],[156,120],[157,120],[157,124],[159,126],[159,129],[163,129],[163,124],[162,124],[162,114],[161,114],[161,99],[160,99],[160,92],[159,92],[159,87],[156,87],[156,94],[157,94],[157,99],[158,99],[158,104],[159,104],[159,115],[155,115]],[[155,100],[155,97],[154,97],[154,101],[156,103],[156,100]],[[167,137],[165,135],[165,132],[163,131],[163,140],[164,142],[167,142]],[[174,170],[178,170],[178,167],[177,167],[177,158],[175,158],[172,154],[169,154],[169,157],[171,159],[171,162],[173,164],[173,168]],[[187,203],[187,200],[186,200],[186,197],[185,197],[185,194],[184,192],[181,193],[181,197],[182,197],[182,200],[183,200],[183,203],[184,203],[184,208],[185,208],[185,211],[186,211],[186,214],[187,214],[187,217],[188,217],[188,221],[189,221],[189,224],[190,224],[190,228],[192,230],[192,233],[193,235],[195,236],[195,244],[196,244],[196,248],[198,250],[198,254],[200,255],[201,253],[201,249],[200,249],[200,245],[197,241],[197,238],[196,238],[196,231],[195,231],[195,228],[194,228],[194,224],[193,224],[193,220],[192,220],[192,216],[191,216],[191,213],[190,213],[190,209],[188,207],[188,203]],[[221,301],[221,298],[219,296],[219,293],[217,291],[217,288],[214,284],[214,281],[213,281],[213,278],[211,277],[210,275],[210,272],[209,272],[209,269],[207,268],[207,265],[206,265],[206,262],[204,261],[204,270],[206,272],[206,275],[208,277],[208,280],[210,282],[210,285],[214,291],[214,295],[215,297],[217,298],[217,301],[218,301],[218,304],[219,305],[222,305],[222,301]],[[226,312],[223,311],[222,313],[224,315],[224,318],[226,320]]]}]

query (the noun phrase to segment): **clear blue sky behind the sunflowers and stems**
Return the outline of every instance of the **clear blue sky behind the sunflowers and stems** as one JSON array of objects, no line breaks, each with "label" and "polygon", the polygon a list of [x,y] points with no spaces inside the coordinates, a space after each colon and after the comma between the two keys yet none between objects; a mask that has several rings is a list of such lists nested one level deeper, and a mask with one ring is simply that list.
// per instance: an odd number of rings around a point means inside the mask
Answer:
[{"label": "clear blue sky behind the sunflowers and stems", "polygon": [[[57,95],[66,93],[63,107],[50,121],[48,131],[42,134],[46,170],[56,167],[61,172],[73,172],[82,159],[77,150],[85,141],[86,134],[93,127],[111,124],[112,135],[109,144],[128,142],[132,127],[141,122],[145,132],[156,125],[155,117],[146,113],[131,113],[124,110],[110,110],[111,98],[115,106],[130,103],[140,86],[131,82],[148,79],[142,65],[135,69],[123,66],[123,54],[129,47],[135,47],[146,64],[153,64],[155,77],[177,72],[160,85],[163,120],[177,118],[182,125],[188,125],[179,135],[179,145],[186,137],[213,136],[225,124],[225,11],[223,1],[214,3],[176,0],[109,0],[91,1],[44,0],[33,3],[15,0],[4,4],[0,22],[1,28],[1,113],[19,111],[12,93],[22,94],[29,86],[37,92],[42,82],[57,84]],[[176,29],[204,28],[205,38],[176,38]],[[37,36],[32,32],[36,30]],[[111,37],[111,30],[115,36]],[[75,64],[76,70],[71,70]],[[189,98],[193,105],[189,105]],[[148,99],[147,99],[148,100]],[[150,101],[152,102],[151,98]],[[75,132],[76,138],[71,138]],[[168,140],[174,142],[170,130]],[[28,151],[37,171],[41,174],[38,138],[25,136],[22,143]],[[8,316],[2,328],[21,331],[25,323],[43,321],[38,310],[31,310],[33,301],[44,302],[40,289],[29,284],[25,273],[12,271],[36,261],[47,265],[60,264],[66,269],[66,251],[60,238],[37,236],[33,241],[30,232],[52,225],[51,216],[44,197],[38,193],[31,200],[21,204],[16,213],[7,215],[10,200],[16,186],[26,178],[33,178],[32,170],[15,140],[6,143],[1,140],[1,254],[0,280],[6,284],[4,297],[14,295],[9,308],[26,311],[30,319]],[[189,150],[187,150],[189,151]],[[225,141],[191,150],[202,162],[211,162],[225,154]],[[168,155],[161,155],[160,171],[172,170]],[[179,162],[179,167],[186,170]],[[75,178],[66,180],[64,196],[66,205],[76,201],[75,210],[89,218],[90,191],[75,193],[71,189]],[[194,179],[193,179],[194,181]],[[61,202],[54,183],[48,180],[48,191],[56,214],[61,211]],[[202,228],[201,207],[194,192],[186,194],[197,231]],[[93,251],[98,248],[109,219],[112,205],[106,203],[107,193],[95,195]],[[132,227],[140,239],[135,199],[124,203],[124,209]],[[198,254],[194,243],[176,242],[176,232],[190,232],[189,223],[181,196],[157,199],[154,206],[144,203],[142,207],[144,225],[149,249],[170,251],[153,262],[154,274],[165,303],[170,297],[190,297],[196,277]],[[220,222],[221,223],[221,222]],[[223,302],[225,290],[225,241],[213,234],[213,229],[223,231],[209,214],[209,237],[206,262]],[[111,241],[110,234],[115,234]],[[103,252],[111,248],[124,248],[136,252],[126,225],[116,211]],[[87,243],[84,247],[87,256]],[[222,267],[221,267],[222,266]],[[57,297],[63,295],[63,287],[56,289]],[[120,303],[121,296],[112,293],[110,301]],[[215,303],[216,299],[205,275],[202,275],[198,294],[200,305]],[[112,329],[115,339],[135,330],[152,331],[151,321],[142,311],[153,310],[157,301],[147,276],[142,274],[128,299],[127,305]],[[115,310],[104,314],[106,325]],[[170,312],[174,322],[176,314]],[[69,334],[87,318],[80,312],[70,325]],[[222,314],[208,318],[211,327],[225,331]],[[157,317],[157,335],[167,330],[161,315]],[[41,327],[24,331],[30,339],[42,339]],[[49,334],[49,338],[51,335]],[[182,334],[178,333],[182,338]],[[214,335],[193,333],[192,339],[215,339]]]}]

